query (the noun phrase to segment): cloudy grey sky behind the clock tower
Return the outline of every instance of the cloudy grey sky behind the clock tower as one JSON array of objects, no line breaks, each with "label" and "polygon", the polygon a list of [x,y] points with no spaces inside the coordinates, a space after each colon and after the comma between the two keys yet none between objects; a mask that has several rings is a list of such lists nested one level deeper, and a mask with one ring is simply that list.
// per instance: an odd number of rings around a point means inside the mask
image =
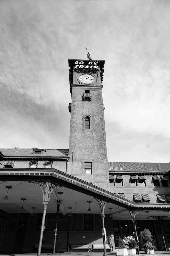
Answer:
[{"label": "cloudy grey sky behind the clock tower", "polygon": [[105,60],[109,162],[170,161],[169,0],[1,0],[0,148],[69,147],[68,59]]}]

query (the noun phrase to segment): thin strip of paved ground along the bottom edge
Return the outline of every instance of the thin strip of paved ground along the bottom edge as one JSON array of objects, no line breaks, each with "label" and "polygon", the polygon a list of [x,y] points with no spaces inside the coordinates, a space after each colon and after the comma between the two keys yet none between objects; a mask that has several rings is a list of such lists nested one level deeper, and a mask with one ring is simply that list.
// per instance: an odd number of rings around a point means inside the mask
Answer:
[{"label": "thin strip of paved ground along the bottom edge", "polygon": [[[102,252],[56,252],[57,256],[103,256]],[[108,256],[116,255],[116,252],[106,252]],[[36,256],[37,253],[22,253],[22,254],[0,254],[1,256]],[[52,253],[41,253],[41,256],[49,256],[52,255]],[[145,254],[143,251],[140,251],[141,256],[170,256],[170,252],[165,251],[155,251],[155,254]]]}]

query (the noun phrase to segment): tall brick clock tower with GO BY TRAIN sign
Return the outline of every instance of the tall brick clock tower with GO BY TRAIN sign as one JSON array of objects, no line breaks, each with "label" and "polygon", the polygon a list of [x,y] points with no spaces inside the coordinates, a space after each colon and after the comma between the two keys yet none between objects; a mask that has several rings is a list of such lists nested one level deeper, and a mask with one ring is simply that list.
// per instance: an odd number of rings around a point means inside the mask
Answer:
[{"label": "tall brick clock tower with GO BY TRAIN sign", "polygon": [[69,59],[72,102],[68,174],[108,189],[109,174],[102,99],[105,60]]}]

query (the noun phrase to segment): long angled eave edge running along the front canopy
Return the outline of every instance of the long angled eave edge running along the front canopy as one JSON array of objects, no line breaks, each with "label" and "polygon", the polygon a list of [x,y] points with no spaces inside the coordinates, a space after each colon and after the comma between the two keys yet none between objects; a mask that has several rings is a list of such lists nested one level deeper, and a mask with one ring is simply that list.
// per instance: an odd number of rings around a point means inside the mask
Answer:
[{"label": "long angled eave edge running along the front canopy", "polygon": [[72,175],[51,168],[50,170],[44,168],[1,168],[0,180],[26,180],[26,181],[51,181],[57,183],[59,186],[76,190],[78,192],[97,197],[127,209],[166,209],[170,204],[138,204],[125,199],[121,196],[113,194],[105,189],[99,188],[87,181],[78,179]]}]

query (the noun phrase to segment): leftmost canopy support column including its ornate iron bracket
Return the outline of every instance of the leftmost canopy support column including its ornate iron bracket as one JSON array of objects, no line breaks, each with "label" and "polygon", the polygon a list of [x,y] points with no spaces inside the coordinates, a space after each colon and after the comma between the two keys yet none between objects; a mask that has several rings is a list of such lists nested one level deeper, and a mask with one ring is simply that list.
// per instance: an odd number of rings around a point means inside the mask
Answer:
[{"label": "leftmost canopy support column including its ornate iron bracket", "polygon": [[38,253],[37,256],[41,255],[41,247],[42,247],[42,240],[43,240],[43,233],[45,229],[45,218],[46,218],[46,210],[47,210],[47,205],[50,200],[50,195],[51,192],[58,186],[55,183],[52,183],[50,181],[28,181],[29,183],[34,183],[38,185],[42,192],[43,192],[43,205],[44,205],[44,210],[43,210],[43,217],[42,217],[42,223],[41,223],[41,232],[40,232],[40,238],[39,238],[39,246],[38,246]]}]

